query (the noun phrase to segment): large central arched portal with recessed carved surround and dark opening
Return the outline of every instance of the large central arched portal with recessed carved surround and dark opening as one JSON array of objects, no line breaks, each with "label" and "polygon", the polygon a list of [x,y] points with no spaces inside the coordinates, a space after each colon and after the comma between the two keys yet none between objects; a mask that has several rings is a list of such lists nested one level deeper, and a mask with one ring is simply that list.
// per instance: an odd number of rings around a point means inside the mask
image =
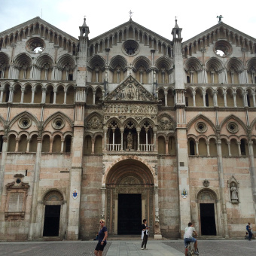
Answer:
[{"label": "large central arched portal with recessed carved surround and dark opening", "polygon": [[121,160],[108,171],[105,185],[110,234],[139,235],[143,218],[154,233],[154,177],[145,163]]}]

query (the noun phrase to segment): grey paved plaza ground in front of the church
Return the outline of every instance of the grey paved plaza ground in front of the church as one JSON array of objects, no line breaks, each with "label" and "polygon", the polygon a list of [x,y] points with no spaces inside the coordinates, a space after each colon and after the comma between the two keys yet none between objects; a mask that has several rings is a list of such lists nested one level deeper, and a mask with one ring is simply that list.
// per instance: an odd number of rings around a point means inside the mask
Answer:
[{"label": "grey paved plaza ground in front of the church", "polygon": [[[140,240],[108,241],[104,256],[181,256],[182,240],[149,240],[148,250],[141,250]],[[93,256],[96,241],[0,242],[0,255],[19,256]],[[256,240],[199,240],[201,256],[243,256],[256,253]]]}]

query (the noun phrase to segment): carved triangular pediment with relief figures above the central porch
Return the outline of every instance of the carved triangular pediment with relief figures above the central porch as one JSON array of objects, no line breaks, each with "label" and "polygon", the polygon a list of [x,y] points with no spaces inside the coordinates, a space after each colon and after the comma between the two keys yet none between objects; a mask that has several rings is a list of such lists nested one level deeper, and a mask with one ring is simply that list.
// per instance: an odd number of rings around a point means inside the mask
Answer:
[{"label": "carved triangular pediment with relief figures above the central porch", "polygon": [[156,101],[156,99],[152,93],[148,92],[139,81],[130,75],[105,97],[106,101],[152,102]]}]

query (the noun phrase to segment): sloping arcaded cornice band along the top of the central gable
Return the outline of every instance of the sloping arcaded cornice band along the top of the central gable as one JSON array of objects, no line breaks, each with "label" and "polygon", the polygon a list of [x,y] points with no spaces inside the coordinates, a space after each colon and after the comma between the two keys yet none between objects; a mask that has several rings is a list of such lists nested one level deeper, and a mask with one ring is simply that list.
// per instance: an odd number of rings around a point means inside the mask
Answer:
[{"label": "sloping arcaded cornice band along the top of the central gable", "polygon": [[152,39],[156,39],[157,41],[165,42],[166,44],[172,44],[171,40],[164,38],[163,36],[151,31],[150,29],[145,28],[144,26],[134,22],[133,20],[129,20],[126,23],[123,23],[120,26],[115,27],[114,29],[110,29],[103,34],[90,39],[90,44],[105,40],[105,38],[111,38],[113,35],[119,33],[120,31],[124,31],[125,29],[130,28],[135,29],[137,32],[142,32],[142,34],[149,35]]}]

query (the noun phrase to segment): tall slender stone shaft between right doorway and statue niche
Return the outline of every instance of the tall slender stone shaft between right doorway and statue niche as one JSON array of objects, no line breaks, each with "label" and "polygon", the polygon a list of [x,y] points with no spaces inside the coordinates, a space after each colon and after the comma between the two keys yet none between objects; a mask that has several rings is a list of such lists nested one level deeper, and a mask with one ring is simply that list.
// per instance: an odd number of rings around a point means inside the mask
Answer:
[{"label": "tall slender stone shaft between right doorway and statue niche", "polygon": [[224,227],[220,228],[223,230],[223,236],[228,238],[228,231],[227,231],[227,209],[226,209],[226,200],[225,200],[225,192],[224,192],[224,172],[223,172],[223,163],[222,163],[222,152],[221,152],[221,140],[219,139],[217,142],[217,154],[218,154],[218,176],[219,176],[219,186],[221,192],[221,222]]}]

